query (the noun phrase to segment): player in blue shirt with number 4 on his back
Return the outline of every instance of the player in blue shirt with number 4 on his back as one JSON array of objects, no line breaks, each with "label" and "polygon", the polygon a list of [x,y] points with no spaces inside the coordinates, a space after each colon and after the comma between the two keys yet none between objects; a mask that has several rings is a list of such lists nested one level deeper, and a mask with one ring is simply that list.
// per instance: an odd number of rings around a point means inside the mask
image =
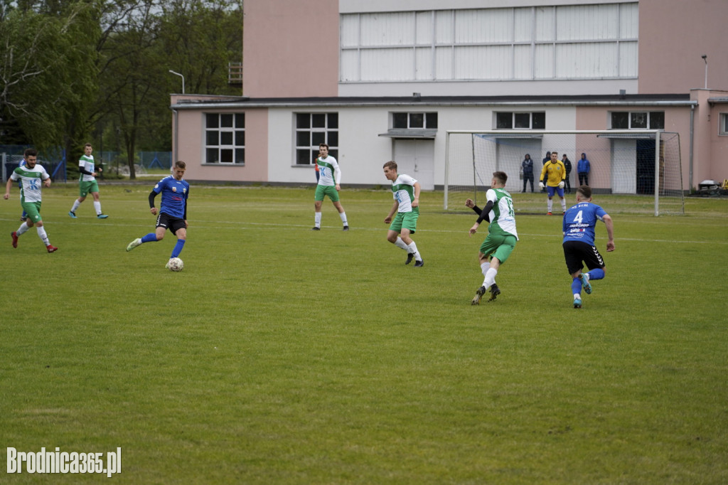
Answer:
[{"label": "player in blue shirt with number 4 on his back", "polygon": [[[606,251],[614,251],[614,224],[603,208],[591,203],[591,188],[579,186],[577,204],[572,205],[563,215],[563,256],[571,274],[571,293],[574,295],[574,308],[582,307],[582,288],[588,294],[592,287],[590,281],[604,278],[604,259],[594,245],[596,221],[604,222],[609,241]],[[584,273],[582,261],[589,268]]]}]

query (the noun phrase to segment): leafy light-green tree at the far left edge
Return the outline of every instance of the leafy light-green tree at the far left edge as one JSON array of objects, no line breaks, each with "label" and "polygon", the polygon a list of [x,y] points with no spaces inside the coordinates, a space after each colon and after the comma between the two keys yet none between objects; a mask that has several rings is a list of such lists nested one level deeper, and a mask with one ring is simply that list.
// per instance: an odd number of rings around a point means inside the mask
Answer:
[{"label": "leafy light-green tree at the far left edge", "polygon": [[73,140],[84,105],[95,98],[97,15],[84,1],[60,16],[20,3],[1,9],[0,119],[21,143],[57,146]]}]

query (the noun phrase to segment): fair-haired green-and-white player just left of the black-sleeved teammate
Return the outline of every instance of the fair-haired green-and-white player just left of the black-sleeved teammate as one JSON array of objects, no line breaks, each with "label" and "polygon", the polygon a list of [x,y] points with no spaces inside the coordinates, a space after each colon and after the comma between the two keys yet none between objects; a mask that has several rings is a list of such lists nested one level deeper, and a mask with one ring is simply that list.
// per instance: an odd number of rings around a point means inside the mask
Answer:
[{"label": "fair-haired green-and-white player just left of the black-sleeved teammate", "polygon": [[[422,267],[424,261],[417,251],[417,245],[410,237],[410,234],[414,234],[417,229],[419,218],[419,182],[408,175],[397,175],[397,163],[391,161],[384,164],[384,176],[392,181],[392,193],[395,198],[392,209],[384,218],[385,224],[392,223],[389,225],[387,240],[397,248],[407,251],[405,264],[410,264],[414,258],[415,267]],[[397,217],[392,221],[395,213]]]}]

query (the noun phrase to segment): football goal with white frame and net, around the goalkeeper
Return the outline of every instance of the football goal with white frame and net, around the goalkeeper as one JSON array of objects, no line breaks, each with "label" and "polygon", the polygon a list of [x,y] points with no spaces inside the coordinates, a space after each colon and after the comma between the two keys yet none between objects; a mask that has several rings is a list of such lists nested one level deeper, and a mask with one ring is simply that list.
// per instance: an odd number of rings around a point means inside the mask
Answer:
[{"label": "football goal with white frame and net, around the goalkeeper", "polygon": [[[506,189],[518,211],[545,212],[546,197],[539,189],[539,176],[547,151],[556,151],[559,160],[566,154],[571,161],[564,195],[567,207],[575,203],[577,165],[583,153],[590,162],[588,185],[593,197],[607,210],[655,216],[684,213],[680,138],[678,133],[659,130],[448,131],[445,209],[462,210],[467,198],[484,205],[493,173],[500,170],[508,175]],[[521,162],[526,154],[534,162],[533,194],[530,182],[521,194]],[[554,207],[560,209],[558,202]]]}]

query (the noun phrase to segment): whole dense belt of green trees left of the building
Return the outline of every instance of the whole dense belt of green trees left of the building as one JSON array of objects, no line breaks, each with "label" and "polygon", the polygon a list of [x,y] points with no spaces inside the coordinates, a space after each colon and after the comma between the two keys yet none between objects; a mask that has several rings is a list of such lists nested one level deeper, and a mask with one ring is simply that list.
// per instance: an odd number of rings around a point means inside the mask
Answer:
[{"label": "whole dense belt of green trees left of the building", "polygon": [[75,159],[91,133],[119,133],[134,178],[138,146],[171,148],[168,71],[235,95],[241,55],[242,0],[0,0],[0,134]]}]

